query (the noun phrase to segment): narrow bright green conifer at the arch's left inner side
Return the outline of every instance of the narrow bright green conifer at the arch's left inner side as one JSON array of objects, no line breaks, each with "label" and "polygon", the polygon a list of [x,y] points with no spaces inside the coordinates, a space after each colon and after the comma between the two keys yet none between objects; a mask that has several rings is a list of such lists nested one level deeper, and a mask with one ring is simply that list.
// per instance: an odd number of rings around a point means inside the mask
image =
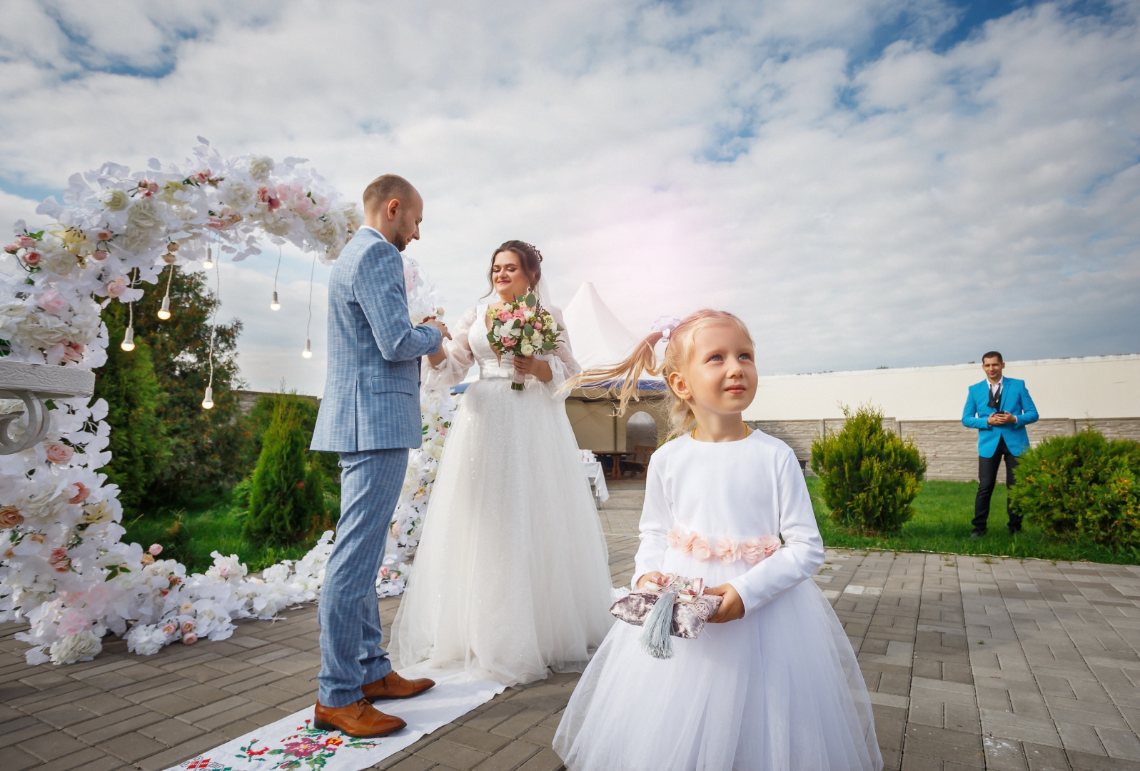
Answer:
[{"label": "narrow bright green conifer at the arch's left inner side", "polygon": [[158,416],[161,392],[150,347],[139,340],[132,351],[120,348],[125,326],[114,316],[107,319],[107,332],[112,344],[107,363],[96,371],[95,398],[107,400],[112,455],[100,471],[119,485],[119,500],[130,514],[139,511],[169,461],[170,439]]}]

